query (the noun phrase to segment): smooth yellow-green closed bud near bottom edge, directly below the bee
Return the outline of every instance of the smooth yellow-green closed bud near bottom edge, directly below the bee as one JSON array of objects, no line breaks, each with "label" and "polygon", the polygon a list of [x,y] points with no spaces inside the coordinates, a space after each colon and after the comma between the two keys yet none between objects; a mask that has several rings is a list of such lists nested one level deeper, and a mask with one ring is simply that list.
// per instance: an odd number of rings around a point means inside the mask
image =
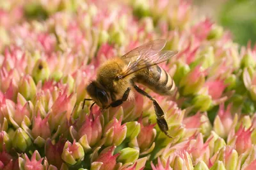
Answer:
[{"label": "smooth yellow-green closed bud near bottom edge, directly below the bee", "polygon": [[140,151],[134,148],[124,148],[120,151],[120,155],[118,157],[118,161],[124,164],[129,162],[135,162],[139,158]]}]

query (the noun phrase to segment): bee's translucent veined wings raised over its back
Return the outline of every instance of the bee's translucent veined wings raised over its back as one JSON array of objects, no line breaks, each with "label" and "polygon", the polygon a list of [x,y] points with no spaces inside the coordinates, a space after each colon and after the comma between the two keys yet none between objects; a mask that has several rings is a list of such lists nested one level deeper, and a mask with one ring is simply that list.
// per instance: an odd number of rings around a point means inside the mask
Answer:
[{"label": "bee's translucent veined wings raised over its back", "polygon": [[120,78],[135,73],[142,68],[163,63],[172,56],[175,56],[177,51],[162,50],[165,44],[165,40],[154,40],[145,43],[122,56],[121,58],[126,60],[129,64],[120,75]]}]

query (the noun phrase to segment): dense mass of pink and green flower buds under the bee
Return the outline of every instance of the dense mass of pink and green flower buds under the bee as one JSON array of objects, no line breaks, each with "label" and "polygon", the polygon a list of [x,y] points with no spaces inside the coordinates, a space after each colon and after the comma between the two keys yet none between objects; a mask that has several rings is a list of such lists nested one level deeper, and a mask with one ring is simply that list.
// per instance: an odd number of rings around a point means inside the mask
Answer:
[{"label": "dense mass of pink and green flower buds under the bee", "polygon": [[[255,169],[256,46],[184,0],[0,2],[0,169]],[[177,91],[90,109],[97,68],[166,39]],[[140,85],[139,85],[140,86]]]}]

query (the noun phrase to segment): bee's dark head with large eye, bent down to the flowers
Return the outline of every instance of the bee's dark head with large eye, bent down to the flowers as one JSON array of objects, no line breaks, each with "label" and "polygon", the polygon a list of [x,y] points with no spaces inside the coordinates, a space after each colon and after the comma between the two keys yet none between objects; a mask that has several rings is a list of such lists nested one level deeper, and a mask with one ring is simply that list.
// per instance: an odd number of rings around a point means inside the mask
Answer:
[{"label": "bee's dark head with large eye, bent down to the flowers", "polygon": [[103,108],[107,107],[109,104],[109,95],[103,89],[103,87],[96,81],[91,82],[86,88],[88,94],[94,102],[99,105],[99,107]]}]

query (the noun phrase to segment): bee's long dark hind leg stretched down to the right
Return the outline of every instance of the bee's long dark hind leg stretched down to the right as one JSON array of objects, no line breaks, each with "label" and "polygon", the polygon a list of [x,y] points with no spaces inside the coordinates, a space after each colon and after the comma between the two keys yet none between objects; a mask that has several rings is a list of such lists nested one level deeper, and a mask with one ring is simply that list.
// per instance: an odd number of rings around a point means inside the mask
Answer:
[{"label": "bee's long dark hind leg stretched down to the right", "polygon": [[148,95],[147,92],[143,91],[142,89],[140,89],[135,84],[133,85],[133,87],[136,89],[136,91],[138,91],[138,93],[140,93],[141,95],[144,95],[145,97],[147,97],[150,100],[152,100],[153,105],[154,105],[154,109],[155,109],[155,112],[156,112],[157,125],[164,132],[164,134],[166,134],[168,137],[172,138],[172,136],[170,136],[168,134],[168,124],[167,124],[166,120],[164,119],[164,111],[161,108],[161,106],[158,104],[156,99],[152,98],[150,95]]}]

